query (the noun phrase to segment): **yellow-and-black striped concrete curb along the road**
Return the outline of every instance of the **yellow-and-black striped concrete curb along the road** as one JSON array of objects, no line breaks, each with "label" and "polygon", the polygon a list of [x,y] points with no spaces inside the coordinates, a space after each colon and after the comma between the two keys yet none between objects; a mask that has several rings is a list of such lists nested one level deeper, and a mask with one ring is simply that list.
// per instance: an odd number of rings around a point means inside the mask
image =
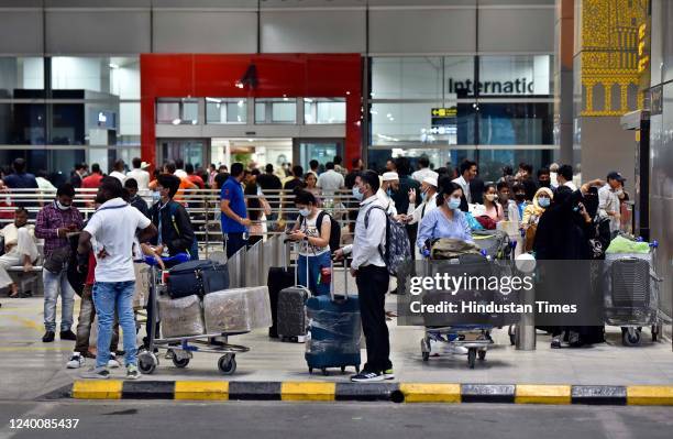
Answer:
[{"label": "yellow-and-black striped concrete curb along the road", "polygon": [[[451,383],[329,383],[245,381],[82,381],[69,392],[75,399],[178,400],[360,400],[395,403],[497,403],[672,405],[673,385],[531,385]],[[66,396],[67,395],[67,396]]]}]

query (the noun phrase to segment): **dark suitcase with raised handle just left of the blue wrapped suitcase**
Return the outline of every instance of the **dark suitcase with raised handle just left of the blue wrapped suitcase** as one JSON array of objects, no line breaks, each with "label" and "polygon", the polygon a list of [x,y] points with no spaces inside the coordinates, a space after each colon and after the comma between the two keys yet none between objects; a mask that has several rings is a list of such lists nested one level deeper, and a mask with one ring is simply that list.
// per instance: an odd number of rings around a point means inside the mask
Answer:
[{"label": "dark suitcase with raised handle just left of the blue wrapped suitcase", "polygon": [[[298,256],[300,257],[300,256]],[[308,257],[308,256],[306,256]],[[307,264],[308,265],[308,264]],[[304,343],[307,333],[306,300],[311,296],[309,288],[298,285],[299,267],[295,270],[295,285],[278,293],[278,337],[282,341]],[[306,271],[306,284],[309,284]]]}]

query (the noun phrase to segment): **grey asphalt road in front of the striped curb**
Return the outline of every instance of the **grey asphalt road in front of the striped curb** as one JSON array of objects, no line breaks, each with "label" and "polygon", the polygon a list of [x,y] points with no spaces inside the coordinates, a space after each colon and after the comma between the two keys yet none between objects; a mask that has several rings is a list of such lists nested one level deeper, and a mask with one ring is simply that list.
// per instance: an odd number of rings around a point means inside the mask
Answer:
[{"label": "grey asphalt road in front of the striped curb", "polygon": [[[79,419],[76,429],[12,429],[10,419]],[[361,403],[0,402],[9,438],[665,438],[673,407]]]}]

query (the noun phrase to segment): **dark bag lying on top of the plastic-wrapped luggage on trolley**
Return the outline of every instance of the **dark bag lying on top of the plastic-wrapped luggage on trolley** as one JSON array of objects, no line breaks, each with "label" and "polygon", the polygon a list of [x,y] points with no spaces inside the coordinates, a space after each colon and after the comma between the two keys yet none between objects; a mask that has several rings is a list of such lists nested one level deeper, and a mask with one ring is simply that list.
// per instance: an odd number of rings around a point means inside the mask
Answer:
[{"label": "dark bag lying on top of the plastic-wrapped luggage on trolley", "polygon": [[227,264],[213,261],[188,261],[168,271],[168,296],[172,299],[191,296],[199,297],[229,288]]}]

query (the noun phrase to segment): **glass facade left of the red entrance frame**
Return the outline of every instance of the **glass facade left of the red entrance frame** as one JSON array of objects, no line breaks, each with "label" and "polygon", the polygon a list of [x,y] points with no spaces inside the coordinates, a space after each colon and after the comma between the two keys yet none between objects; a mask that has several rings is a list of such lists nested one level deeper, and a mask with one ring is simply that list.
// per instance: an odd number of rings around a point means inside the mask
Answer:
[{"label": "glass facade left of the red entrance frame", "polygon": [[78,162],[130,162],[140,134],[139,57],[0,57],[3,165],[23,157],[60,183]]}]

